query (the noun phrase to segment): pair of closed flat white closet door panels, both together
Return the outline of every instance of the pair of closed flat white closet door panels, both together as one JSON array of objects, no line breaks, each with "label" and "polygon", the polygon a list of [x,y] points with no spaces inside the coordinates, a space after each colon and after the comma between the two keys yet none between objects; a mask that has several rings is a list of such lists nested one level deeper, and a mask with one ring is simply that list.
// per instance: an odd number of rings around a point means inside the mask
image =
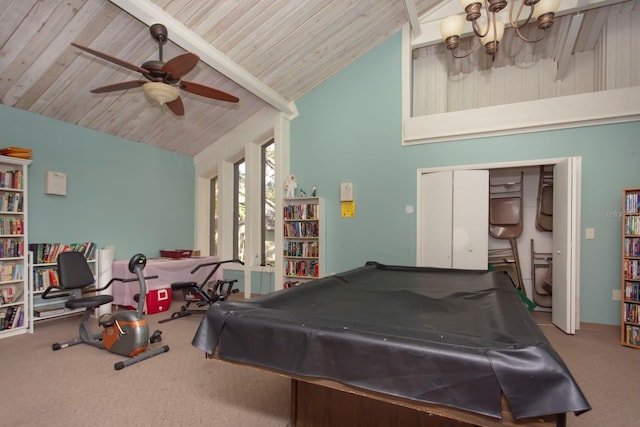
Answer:
[{"label": "pair of closed flat white closet door panels, both together", "polygon": [[489,171],[422,175],[420,265],[487,268]]}]

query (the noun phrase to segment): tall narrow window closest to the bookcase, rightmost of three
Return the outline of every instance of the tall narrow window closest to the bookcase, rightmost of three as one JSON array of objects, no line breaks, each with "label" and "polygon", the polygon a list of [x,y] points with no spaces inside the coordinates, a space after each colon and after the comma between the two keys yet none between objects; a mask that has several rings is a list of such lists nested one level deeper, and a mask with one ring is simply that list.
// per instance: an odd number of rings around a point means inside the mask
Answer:
[{"label": "tall narrow window closest to the bookcase, rightmost of three", "polygon": [[262,255],[260,264],[273,264],[276,261],[276,163],[275,142],[269,141],[262,146]]}]

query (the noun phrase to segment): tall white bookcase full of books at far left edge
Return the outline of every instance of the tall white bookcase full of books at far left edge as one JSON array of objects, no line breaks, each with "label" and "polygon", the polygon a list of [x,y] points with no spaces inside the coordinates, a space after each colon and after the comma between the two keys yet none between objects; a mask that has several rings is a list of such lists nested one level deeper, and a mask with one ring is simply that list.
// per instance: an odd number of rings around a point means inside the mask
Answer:
[{"label": "tall white bookcase full of books at far left edge", "polygon": [[27,262],[27,166],[0,156],[0,338],[31,329]]}]

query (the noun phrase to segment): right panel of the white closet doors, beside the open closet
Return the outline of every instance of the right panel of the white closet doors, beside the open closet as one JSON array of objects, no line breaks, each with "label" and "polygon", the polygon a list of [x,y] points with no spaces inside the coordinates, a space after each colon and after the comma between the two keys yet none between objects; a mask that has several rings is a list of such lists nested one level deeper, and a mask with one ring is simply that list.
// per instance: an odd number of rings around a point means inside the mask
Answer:
[{"label": "right panel of the white closet doors, beside the open closet", "polygon": [[489,171],[454,171],[453,268],[487,269],[488,229]]}]

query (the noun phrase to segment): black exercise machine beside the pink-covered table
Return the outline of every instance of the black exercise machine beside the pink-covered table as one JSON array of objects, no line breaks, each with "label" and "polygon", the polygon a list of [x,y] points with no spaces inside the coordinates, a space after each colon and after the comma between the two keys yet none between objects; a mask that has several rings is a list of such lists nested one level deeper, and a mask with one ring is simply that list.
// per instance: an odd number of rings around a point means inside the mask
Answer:
[{"label": "black exercise machine beside the pink-covered table", "polygon": [[[239,259],[229,259],[226,261],[213,261],[207,262],[203,264],[197,265],[193,270],[191,270],[191,274],[194,274],[196,271],[201,268],[211,267],[211,271],[207,274],[207,277],[202,281],[202,283],[198,284],[197,282],[175,282],[171,284],[172,291],[182,291],[184,295],[184,300],[186,303],[180,307],[180,311],[176,311],[171,314],[171,317],[168,319],[162,319],[158,321],[158,323],[165,323],[171,320],[179,319],[181,317],[190,316],[192,314],[204,314],[208,307],[213,305],[216,301],[224,301],[231,294],[235,294],[238,292],[238,289],[233,286],[238,281],[237,279],[233,280],[216,280],[215,283],[209,282],[211,277],[218,271],[222,264],[226,264],[228,262],[237,262],[239,264],[244,265],[244,262]],[[197,309],[189,308],[191,304],[195,304]],[[207,308],[202,308],[207,307]]]}]

